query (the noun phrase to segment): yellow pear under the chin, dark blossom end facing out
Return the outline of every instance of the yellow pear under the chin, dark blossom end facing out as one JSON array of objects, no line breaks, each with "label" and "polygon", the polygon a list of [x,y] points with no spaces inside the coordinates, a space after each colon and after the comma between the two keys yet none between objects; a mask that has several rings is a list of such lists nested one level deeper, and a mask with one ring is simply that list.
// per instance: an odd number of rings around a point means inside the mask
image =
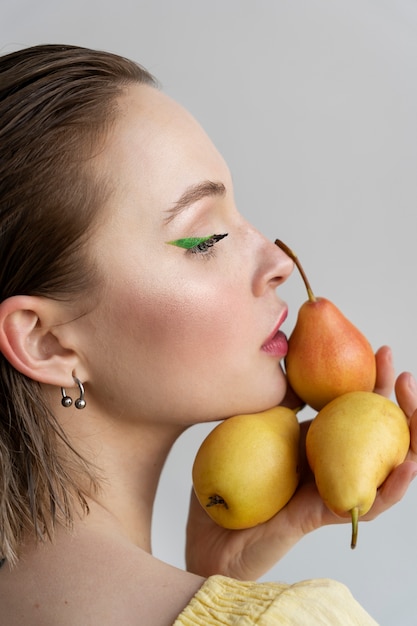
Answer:
[{"label": "yellow pear under the chin, dark blossom end facing out", "polygon": [[195,494],[224,528],[251,528],[273,517],[297,488],[300,427],[291,409],[236,415],[218,424],[193,464]]}]

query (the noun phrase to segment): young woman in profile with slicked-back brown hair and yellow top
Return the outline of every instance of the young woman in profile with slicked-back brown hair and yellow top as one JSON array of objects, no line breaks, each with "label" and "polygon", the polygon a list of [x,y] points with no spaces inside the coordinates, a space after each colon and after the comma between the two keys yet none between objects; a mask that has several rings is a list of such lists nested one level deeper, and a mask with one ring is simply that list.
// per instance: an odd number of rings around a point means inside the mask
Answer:
[{"label": "young woman in profile with slicked-back brown hair and yellow top", "polygon": [[[196,121],[116,55],[2,57],[0,237],[3,623],[373,624],[334,581],[253,582],[304,534],[343,521],[308,477],[245,531],[192,499],[188,571],[152,556],[178,436],[289,401],[276,289],[292,263],[238,213]],[[377,363],[375,391],[389,394],[388,348]],[[368,519],[417,471],[411,375],[396,392],[413,449]]]}]

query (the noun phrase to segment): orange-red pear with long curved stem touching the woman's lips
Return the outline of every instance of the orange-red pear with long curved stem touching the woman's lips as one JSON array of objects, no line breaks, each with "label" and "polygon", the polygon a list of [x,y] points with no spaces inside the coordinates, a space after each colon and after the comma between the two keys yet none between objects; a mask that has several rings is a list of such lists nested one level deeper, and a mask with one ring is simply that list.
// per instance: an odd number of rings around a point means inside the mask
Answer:
[{"label": "orange-red pear with long curved stem touching the woman's lips", "polygon": [[369,341],[330,300],[314,295],[294,252],[278,239],[275,243],[294,260],[308,294],[288,340],[291,387],[317,411],[349,391],[372,391],[376,363]]}]

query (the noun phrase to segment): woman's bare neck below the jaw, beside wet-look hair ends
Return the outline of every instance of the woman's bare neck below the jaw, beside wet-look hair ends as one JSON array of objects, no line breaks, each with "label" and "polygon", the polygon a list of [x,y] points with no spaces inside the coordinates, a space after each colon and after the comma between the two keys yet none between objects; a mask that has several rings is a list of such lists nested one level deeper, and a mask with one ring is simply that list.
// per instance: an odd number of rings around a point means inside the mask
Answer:
[{"label": "woman's bare neck below the jaw, beside wet-look hair ends", "polygon": [[[80,450],[79,445],[77,449],[98,467],[102,477],[100,490],[89,500],[90,514],[85,523],[117,528],[135,545],[151,552],[156,490],[169,451],[184,428],[117,421],[103,428],[97,420],[95,432],[91,432],[92,423],[94,420],[84,423],[88,434],[80,433],[77,424],[76,441],[93,442],[88,449]],[[71,440],[76,445],[75,438]]]}]

